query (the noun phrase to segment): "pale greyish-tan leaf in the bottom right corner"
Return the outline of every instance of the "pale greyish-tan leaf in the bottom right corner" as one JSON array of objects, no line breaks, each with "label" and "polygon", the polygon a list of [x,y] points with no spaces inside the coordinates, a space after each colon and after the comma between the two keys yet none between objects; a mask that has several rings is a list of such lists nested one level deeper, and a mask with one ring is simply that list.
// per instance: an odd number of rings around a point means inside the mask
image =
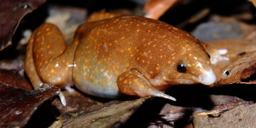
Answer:
[{"label": "pale greyish-tan leaf in the bottom right corner", "polygon": [[217,116],[198,114],[193,117],[193,125],[199,127],[256,127],[256,105],[240,105]]}]

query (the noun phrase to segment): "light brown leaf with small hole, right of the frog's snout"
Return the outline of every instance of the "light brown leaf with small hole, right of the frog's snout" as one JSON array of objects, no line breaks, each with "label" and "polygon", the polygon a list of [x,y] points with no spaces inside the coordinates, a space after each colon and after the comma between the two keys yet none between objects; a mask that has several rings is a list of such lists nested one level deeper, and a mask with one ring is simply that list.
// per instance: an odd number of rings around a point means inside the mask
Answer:
[{"label": "light brown leaf with small hole, right of the frog's snout", "polygon": [[[219,61],[213,65],[217,76],[215,85],[238,83],[255,73],[256,43],[237,40],[215,41],[208,43],[209,49],[226,49],[228,53],[222,55],[229,60]],[[214,54],[214,51],[208,52]]]}]

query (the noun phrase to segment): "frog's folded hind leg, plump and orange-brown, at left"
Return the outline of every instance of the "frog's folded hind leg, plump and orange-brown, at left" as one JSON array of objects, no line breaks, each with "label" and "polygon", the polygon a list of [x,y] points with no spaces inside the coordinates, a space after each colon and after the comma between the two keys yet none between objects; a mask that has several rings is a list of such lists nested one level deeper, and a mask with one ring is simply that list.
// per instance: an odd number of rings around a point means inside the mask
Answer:
[{"label": "frog's folded hind leg, plump and orange-brown, at left", "polygon": [[45,23],[34,31],[28,42],[25,71],[33,87],[42,83],[66,86],[72,84],[73,56],[76,45],[67,47],[60,30]]}]

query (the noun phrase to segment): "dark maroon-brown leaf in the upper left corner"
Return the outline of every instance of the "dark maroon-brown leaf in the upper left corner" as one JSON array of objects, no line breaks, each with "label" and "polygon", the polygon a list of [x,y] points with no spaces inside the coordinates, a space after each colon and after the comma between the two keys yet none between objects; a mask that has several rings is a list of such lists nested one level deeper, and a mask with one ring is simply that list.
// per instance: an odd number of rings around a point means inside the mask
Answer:
[{"label": "dark maroon-brown leaf in the upper left corner", "polygon": [[46,0],[2,0],[0,4],[0,50],[11,45],[11,38],[21,21],[21,18],[30,13]]}]

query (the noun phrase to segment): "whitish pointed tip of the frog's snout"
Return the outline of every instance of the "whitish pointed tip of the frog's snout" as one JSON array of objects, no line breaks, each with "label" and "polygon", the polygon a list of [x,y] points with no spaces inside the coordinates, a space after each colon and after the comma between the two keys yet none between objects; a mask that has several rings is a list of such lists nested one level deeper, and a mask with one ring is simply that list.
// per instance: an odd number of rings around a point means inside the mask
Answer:
[{"label": "whitish pointed tip of the frog's snout", "polygon": [[204,70],[202,75],[199,76],[198,82],[202,83],[203,85],[211,85],[215,82],[216,76],[212,69]]}]

